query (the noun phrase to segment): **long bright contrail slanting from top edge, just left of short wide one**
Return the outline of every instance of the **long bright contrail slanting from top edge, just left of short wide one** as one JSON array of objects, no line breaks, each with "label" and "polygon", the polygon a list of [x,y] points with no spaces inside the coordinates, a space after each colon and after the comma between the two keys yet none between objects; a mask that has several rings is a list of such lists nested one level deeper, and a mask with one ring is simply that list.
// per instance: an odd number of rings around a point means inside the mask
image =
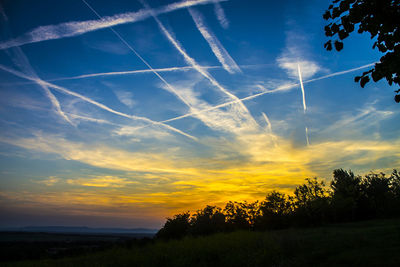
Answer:
[{"label": "long bright contrail slanting from top edge, just left of short wide one", "polygon": [[203,75],[206,79],[208,79],[211,84],[213,84],[214,86],[216,86],[218,89],[220,89],[223,93],[225,93],[226,95],[228,95],[230,98],[234,99],[235,102],[237,103],[240,108],[242,109],[242,115],[246,115],[246,117],[252,121],[255,125],[257,124],[254,120],[253,117],[251,117],[250,112],[248,111],[248,109],[246,108],[246,106],[240,101],[240,99],[235,96],[234,94],[230,93],[228,90],[226,90],[222,85],[220,85],[215,79],[214,77],[212,77],[206,70],[204,70],[203,68],[201,68],[201,66],[199,64],[197,64],[197,62],[190,57],[186,51],[184,50],[184,48],[179,44],[179,42],[177,40],[175,40],[174,37],[172,37],[171,33],[164,27],[164,25],[161,23],[161,21],[158,19],[158,17],[156,16],[156,14],[152,11],[152,9],[149,7],[149,5],[144,1],[144,0],[140,0],[140,2],[144,5],[145,8],[147,8],[148,10],[150,10],[152,17],[154,18],[154,20],[157,22],[159,28],[161,29],[161,32],[165,35],[165,37],[167,37],[167,39],[171,42],[171,44],[178,50],[178,52],[184,57],[185,61],[191,65],[195,70],[197,70],[201,75]]}]

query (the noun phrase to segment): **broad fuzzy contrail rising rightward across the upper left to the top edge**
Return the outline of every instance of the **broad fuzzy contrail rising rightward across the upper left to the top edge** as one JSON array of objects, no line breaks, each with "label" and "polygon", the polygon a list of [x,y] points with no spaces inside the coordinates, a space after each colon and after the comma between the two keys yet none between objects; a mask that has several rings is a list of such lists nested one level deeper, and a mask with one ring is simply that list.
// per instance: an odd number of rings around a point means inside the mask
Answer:
[{"label": "broad fuzzy contrail rising rightward across the upper left to the top edge", "polygon": [[155,8],[151,12],[149,10],[139,10],[137,12],[128,12],[104,17],[103,20],[71,21],[57,25],[40,26],[20,37],[0,43],[0,49],[78,36],[87,32],[97,31],[112,26],[142,21],[151,17],[151,13],[160,15],[191,6],[205,5],[221,1],[227,0],[185,0]]}]

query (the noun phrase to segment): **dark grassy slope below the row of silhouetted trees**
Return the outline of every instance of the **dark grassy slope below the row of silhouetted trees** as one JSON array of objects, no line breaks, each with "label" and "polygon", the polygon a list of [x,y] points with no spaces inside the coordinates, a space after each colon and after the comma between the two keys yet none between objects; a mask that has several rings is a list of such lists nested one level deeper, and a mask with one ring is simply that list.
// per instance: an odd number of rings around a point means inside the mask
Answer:
[{"label": "dark grassy slope below the row of silhouetted trees", "polygon": [[5,266],[399,266],[400,220],[233,232]]}]

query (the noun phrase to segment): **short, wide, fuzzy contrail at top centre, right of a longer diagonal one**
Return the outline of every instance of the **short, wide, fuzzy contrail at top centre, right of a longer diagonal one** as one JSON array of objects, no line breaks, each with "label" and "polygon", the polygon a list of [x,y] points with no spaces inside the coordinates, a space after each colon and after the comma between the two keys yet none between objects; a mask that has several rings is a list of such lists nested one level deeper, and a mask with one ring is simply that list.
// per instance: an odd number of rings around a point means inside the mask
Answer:
[{"label": "short, wide, fuzzy contrail at top centre, right of a longer diagonal one", "polygon": [[217,39],[213,32],[207,27],[203,16],[200,12],[196,11],[194,8],[188,8],[190,15],[197,29],[203,35],[204,39],[207,41],[214,55],[217,57],[218,61],[222,64],[225,70],[229,73],[241,72],[239,66],[232,59],[226,49],[222,46],[221,42]]}]

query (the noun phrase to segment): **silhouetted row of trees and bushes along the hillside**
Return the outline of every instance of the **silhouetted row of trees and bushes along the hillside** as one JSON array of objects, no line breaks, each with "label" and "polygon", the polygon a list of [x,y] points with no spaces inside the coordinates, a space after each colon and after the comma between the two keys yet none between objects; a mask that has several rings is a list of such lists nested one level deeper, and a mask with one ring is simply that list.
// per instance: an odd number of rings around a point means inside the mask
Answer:
[{"label": "silhouetted row of trees and bushes along the hillside", "polygon": [[235,230],[268,230],[323,223],[351,222],[400,215],[400,173],[364,177],[336,169],[330,186],[307,178],[292,195],[271,191],[263,201],[229,201],[225,208],[207,205],[194,214],[167,218],[159,239],[178,239]]}]

